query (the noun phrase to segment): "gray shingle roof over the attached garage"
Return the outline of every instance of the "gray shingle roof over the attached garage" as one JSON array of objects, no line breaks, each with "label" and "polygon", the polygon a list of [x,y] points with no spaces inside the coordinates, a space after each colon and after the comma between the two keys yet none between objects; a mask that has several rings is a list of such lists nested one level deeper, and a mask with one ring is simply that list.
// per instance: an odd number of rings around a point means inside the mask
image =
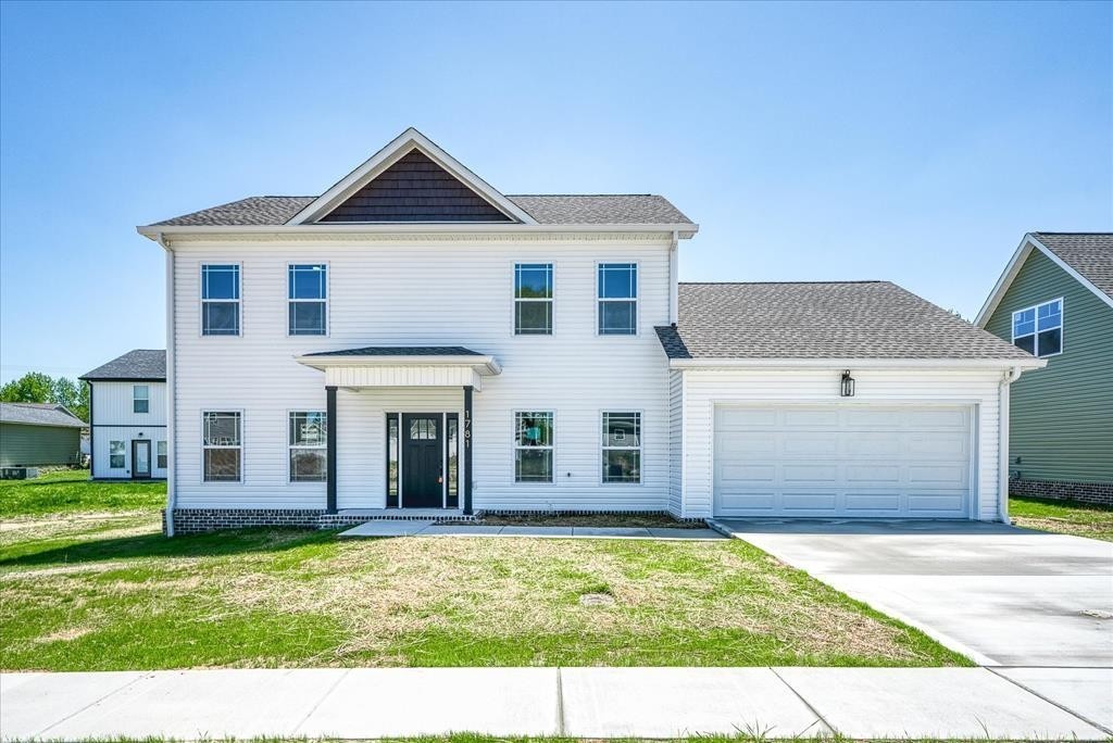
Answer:
[{"label": "gray shingle roof over the attached garage", "polygon": [[1032,359],[888,281],[681,284],[669,358]]}]

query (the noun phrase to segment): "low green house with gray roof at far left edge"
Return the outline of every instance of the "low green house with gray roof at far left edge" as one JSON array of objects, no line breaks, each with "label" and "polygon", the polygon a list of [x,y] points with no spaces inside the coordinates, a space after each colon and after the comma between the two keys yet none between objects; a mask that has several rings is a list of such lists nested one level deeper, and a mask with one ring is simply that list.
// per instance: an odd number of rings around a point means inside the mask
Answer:
[{"label": "low green house with gray roof at far left edge", "polygon": [[62,405],[0,403],[0,467],[77,464],[86,427]]}]

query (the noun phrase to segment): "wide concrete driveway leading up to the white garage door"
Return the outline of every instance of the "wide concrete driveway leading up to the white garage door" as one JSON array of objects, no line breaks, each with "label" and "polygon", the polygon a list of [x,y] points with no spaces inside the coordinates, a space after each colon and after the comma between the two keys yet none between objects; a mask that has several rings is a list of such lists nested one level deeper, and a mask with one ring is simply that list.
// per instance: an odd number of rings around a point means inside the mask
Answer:
[{"label": "wide concrete driveway leading up to the white garage door", "polygon": [[716,524],[982,665],[1113,666],[1113,543],[979,522]]}]

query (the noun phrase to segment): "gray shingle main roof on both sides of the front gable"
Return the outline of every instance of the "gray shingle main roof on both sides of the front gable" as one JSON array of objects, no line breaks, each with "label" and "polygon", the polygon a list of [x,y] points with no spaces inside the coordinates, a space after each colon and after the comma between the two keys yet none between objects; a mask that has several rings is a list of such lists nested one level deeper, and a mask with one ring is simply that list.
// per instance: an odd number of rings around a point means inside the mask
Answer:
[{"label": "gray shingle main roof on both sides of the front gable", "polygon": [[[315,196],[253,196],[156,222],[156,226],[285,225]],[[649,194],[508,196],[541,225],[691,224],[668,199]]]}]

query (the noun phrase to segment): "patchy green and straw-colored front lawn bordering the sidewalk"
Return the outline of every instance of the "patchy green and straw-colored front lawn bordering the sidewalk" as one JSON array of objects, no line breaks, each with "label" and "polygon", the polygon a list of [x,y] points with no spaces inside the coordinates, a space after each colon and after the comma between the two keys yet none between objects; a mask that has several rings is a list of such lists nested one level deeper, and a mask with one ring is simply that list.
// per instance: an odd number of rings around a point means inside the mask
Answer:
[{"label": "patchy green and straw-colored front lawn bordering the sidewalk", "polygon": [[0,529],[4,671],[968,664],[738,539],[167,539],[156,507],[38,513]]}]

